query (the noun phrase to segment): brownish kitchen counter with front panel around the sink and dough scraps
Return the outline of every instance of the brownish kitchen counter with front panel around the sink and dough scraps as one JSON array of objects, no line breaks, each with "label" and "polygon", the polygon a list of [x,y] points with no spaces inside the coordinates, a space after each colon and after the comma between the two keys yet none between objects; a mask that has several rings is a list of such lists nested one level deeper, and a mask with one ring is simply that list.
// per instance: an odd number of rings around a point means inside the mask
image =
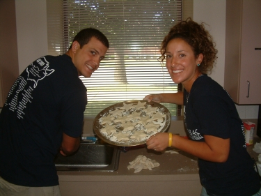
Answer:
[{"label": "brownish kitchen counter with front panel around the sink and dough scraps", "polygon": [[[255,138],[255,142],[260,142],[260,138]],[[251,157],[258,160],[253,145],[247,150]],[[130,148],[120,153],[119,167],[115,172],[58,172],[61,193],[63,196],[200,195],[197,158],[177,152],[159,153],[145,147]],[[139,155],[156,160],[159,167],[142,169],[138,173],[134,173],[134,169],[128,170],[129,162]]]}]

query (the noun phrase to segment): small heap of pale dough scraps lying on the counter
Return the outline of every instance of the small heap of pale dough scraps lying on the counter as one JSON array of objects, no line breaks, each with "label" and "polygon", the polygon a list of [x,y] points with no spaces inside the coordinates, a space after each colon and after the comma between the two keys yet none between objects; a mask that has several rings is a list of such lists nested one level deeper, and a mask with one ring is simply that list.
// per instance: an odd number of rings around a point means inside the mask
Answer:
[{"label": "small heap of pale dough scraps lying on the counter", "polygon": [[129,162],[127,169],[134,169],[134,173],[141,172],[142,169],[150,169],[159,167],[159,163],[156,160],[151,160],[143,155],[137,156],[134,160]]}]

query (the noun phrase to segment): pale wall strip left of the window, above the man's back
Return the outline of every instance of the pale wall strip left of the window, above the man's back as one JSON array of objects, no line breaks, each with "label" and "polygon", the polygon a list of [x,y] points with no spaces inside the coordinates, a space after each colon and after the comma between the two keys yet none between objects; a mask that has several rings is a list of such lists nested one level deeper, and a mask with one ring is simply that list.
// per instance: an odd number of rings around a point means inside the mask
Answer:
[{"label": "pale wall strip left of the window, above the man's back", "polygon": [[15,0],[19,73],[48,54],[45,0]]}]

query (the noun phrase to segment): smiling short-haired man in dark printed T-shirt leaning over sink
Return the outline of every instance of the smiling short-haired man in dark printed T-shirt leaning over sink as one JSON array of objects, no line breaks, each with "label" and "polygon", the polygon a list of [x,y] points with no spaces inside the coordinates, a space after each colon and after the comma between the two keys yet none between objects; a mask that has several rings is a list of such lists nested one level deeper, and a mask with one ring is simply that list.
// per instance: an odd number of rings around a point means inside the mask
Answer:
[{"label": "smiling short-haired man in dark printed T-shirt leaning over sink", "polygon": [[[61,195],[54,157],[77,151],[90,77],[109,42],[83,29],[61,56],[42,56],[17,78],[0,114],[0,195]],[[41,193],[41,194],[40,194]]]}]

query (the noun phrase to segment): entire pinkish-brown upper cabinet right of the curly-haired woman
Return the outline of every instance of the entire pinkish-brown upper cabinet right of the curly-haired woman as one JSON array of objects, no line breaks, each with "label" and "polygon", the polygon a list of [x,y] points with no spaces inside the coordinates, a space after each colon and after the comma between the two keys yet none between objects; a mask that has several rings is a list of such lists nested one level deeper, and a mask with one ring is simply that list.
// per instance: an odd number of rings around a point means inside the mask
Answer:
[{"label": "entire pinkish-brown upper cabinet right of the curly-haired woman", "polygon": [[224,88],[239,105],[261,104],[261,0],[226,1]]}]

